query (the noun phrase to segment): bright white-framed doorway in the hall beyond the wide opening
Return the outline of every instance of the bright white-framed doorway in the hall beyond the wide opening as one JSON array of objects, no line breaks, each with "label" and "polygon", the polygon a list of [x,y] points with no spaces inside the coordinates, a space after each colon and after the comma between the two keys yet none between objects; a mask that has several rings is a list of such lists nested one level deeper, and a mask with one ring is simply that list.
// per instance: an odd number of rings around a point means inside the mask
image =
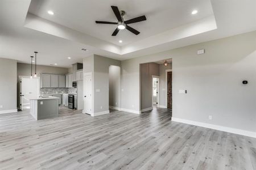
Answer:
[{"label": "bright white-framed doorway in the hall beyond the wide opening", "polygon": [[159,107],[159,76],[152,75],[152,107]]}]

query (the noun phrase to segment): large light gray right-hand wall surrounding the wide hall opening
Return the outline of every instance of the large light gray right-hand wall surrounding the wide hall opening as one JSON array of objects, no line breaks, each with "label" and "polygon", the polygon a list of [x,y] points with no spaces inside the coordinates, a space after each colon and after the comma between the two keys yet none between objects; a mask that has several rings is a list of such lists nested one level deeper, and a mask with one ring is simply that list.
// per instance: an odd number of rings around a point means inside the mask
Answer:
[{"label": "large light gray right-hand wall surrounding the wide hall opening", "polygon": [[[206,53],[197,55],[199,49]],[[256,32],[122,61],[122,108],[140,109],[139,64],[167,58],[173,117],[256,131]]]}]

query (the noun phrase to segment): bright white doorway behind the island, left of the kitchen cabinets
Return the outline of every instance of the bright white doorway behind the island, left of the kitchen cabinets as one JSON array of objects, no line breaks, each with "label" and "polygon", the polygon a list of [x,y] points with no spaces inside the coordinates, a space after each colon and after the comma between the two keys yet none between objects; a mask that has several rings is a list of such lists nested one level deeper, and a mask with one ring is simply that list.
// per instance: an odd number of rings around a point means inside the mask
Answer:
[{"label": "bright white doorway behind the island, left of the kitchen cabinets", "polygon": [[40,96],[40,77],[19,76],[19,109],[30,109],[30,99]]}]

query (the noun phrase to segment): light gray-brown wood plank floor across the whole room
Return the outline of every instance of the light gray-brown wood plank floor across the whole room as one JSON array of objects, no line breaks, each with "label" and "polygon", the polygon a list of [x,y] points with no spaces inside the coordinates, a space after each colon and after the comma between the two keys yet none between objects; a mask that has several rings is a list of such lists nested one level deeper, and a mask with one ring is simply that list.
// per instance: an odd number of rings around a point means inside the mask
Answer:
[{"label": "light gray-brown wood plank floor across the whole room", "polygon": [[256,169],[256,139],[171,121],[171,111],[35,121],[0,114],[0,169]]}]

